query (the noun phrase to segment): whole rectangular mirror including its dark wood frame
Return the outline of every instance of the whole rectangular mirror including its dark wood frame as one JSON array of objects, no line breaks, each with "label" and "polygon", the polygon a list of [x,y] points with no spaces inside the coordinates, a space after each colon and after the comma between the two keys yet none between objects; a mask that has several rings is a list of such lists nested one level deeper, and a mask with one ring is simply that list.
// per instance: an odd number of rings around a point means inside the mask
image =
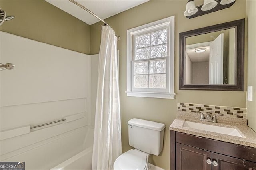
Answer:
[{"label": "whole rectangular mirror including its dark wood frame", "polygon": [[244,91],[244,19],[180,33],[180,89]]}]

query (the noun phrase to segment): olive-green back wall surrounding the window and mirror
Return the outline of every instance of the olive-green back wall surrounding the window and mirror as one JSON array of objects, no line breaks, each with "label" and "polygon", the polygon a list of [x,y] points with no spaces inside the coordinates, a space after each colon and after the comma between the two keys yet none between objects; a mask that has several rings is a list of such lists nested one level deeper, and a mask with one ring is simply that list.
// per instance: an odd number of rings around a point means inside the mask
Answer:
[{"label": "olive-green back wall surrounding the window and mirror", "polygon": [[[195,1],[196,5],[202,1]],[[185,0],[151,0],[130,10],[106,19],[121,36],[120,49],[120,105],[122,124],[122,151],[131,147],[128,144],[128,120],[140,118],[157,121],[166,125],[164,149],[160,156],[150,156],[150,162],[166,170],[170,169],[170,131],[168,127],[177,115],[177,102],[200,103],[207,105],[246,107],[246,92],[234,91],[195,91],[179,90],[179,33],[246,18],[246,1],[236,0],[231,7],[204,16],[187,19],[183,12]],[[175,99],[156,99],[126,96],[126,31],[149,22],[175,16]],[[101,22],[91,25],[90,54],[99,52]],[[246,58],[246,56],[245,56]],[[247,61],[245,61],[246,63]],[[245,65],[245,71],[247,67]],[[245,77],[246,77],[245,73]],[[245,81],[246,82],[246,81]],[[246,83],[245,83],[246,87]]]}]

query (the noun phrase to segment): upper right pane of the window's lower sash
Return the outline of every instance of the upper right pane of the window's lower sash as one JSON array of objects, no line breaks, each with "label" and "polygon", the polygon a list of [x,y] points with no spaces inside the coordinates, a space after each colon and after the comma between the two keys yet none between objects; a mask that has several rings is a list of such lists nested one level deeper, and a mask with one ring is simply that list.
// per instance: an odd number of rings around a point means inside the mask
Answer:
[{"label": "upper right pane of the window's lower sash", "polygon": [[150,61],[149,73],[166,73],[166,59]]}]

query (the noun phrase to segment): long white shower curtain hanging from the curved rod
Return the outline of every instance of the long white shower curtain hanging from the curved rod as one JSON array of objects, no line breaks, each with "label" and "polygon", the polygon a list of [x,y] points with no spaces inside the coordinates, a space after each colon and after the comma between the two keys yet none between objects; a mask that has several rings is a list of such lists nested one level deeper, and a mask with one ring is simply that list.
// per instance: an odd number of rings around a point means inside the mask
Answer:
[{"label": "long white shower curtain hanging from the curved rod", "polygon": [[122,153],[118,87],[117,38],[110,26],[102,26],[98,69],[93,170],[112,170]]}]

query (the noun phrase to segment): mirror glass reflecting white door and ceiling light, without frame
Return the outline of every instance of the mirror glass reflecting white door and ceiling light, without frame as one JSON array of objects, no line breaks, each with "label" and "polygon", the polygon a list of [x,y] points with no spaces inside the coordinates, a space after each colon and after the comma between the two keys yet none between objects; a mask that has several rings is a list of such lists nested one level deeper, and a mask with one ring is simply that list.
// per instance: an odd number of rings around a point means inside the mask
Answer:
[{"label": "mirror glass reflecting white door and ceiling light, without frame", "polygon": [[186,85],[235,85],[235,28],[186,37]]}]

